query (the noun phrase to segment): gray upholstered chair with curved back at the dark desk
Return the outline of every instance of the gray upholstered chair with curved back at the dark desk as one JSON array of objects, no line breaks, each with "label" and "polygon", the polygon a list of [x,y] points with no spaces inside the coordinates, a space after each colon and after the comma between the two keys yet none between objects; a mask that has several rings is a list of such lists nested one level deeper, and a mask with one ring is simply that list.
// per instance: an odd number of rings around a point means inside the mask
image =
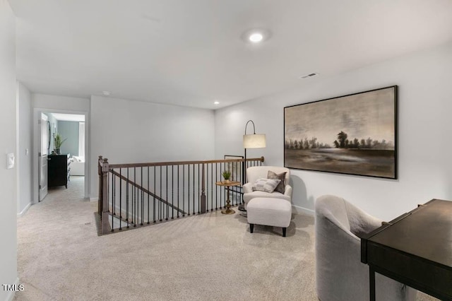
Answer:
[{"label": "gray upholstered chair with curved back at the dark desk", "polygon": [[[316,286],[321,301],[369,300],[369,267],[361,263],[359,235],[381,226],[338,196],[315,204]],[[417,290],[376,273],[376,300],[415,300]]]}]

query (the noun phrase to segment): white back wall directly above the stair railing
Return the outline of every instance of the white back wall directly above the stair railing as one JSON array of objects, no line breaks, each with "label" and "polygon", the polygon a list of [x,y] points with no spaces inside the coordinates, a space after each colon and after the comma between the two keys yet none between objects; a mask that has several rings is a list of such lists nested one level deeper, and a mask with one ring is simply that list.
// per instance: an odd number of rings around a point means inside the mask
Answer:
[{"label": "white back wall directly above the stair railing", "polygon": [[99,155],[112,164],[214,158],[212,110],[92,96],[90,115],[92,198]]}]

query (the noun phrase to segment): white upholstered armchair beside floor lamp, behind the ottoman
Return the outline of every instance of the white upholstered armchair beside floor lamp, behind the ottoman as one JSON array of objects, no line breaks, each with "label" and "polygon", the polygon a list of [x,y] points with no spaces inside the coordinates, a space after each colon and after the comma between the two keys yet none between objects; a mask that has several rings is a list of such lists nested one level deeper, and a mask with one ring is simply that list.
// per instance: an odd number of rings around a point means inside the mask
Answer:
[{"label": "white upholstered armchair beside floor lamp, behind the ottoman", "polygon": [[[282,172],[286,173],[284,180],[284,194],[278,191],[273,191],[272,193],[265,191],[253,191],[254,182],[256,182],[259,178],[266,178],[269,170],[275,172],[276,174],[280,174]],[[292,199],[292,187],[289,185],[290,170],[288,168],[278,166],[248,167],[246,169],[246,178],[248,179],[248,183],[243,185],[243,200],[245,202],[245,209],[248,202],[254,198],[275,198],[285,199],[287,201],[291,201]]]}]

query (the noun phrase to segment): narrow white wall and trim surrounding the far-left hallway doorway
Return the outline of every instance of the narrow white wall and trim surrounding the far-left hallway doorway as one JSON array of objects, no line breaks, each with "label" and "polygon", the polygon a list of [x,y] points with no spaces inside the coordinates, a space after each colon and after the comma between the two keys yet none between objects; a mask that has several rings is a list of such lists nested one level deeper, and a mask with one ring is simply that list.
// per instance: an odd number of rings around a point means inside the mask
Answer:
[{"label": "narrow white wall and trim surrounding the far-left hallway doorway", "polygon": [[[32,187],[32,199],[36,203],[38,201],[38,157],[39,152],[39,127],[37,120],[39,119],[40,112],[51,113],[67,113],[67,114],[84,114],[85,115],[85,153],[89,154],[89,135],[90,135],[90,100],[88,98],[73,98],[61,95],[45,95],[45,94],[32,94],[32,128],[33,128],[33,187]],[[89,160],[85,160],[85,167],[90,165]],[[85,196],[89,195],[89,175],[85,175]]]}]

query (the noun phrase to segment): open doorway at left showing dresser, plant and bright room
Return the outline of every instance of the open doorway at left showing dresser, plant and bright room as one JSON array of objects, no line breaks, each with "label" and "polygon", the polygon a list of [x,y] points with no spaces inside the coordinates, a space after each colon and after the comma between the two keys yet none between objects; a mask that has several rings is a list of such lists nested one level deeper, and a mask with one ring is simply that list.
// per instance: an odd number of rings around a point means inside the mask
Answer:
[{"label": "open doorway at left showing dresser, plant and bright room", "polygon": [[88,113],[35,109],[34,114],[39,117],[33,123],[34,203],[43,201],[47,191],[71,188],[71,182],[77,194],[87,198]]}]

